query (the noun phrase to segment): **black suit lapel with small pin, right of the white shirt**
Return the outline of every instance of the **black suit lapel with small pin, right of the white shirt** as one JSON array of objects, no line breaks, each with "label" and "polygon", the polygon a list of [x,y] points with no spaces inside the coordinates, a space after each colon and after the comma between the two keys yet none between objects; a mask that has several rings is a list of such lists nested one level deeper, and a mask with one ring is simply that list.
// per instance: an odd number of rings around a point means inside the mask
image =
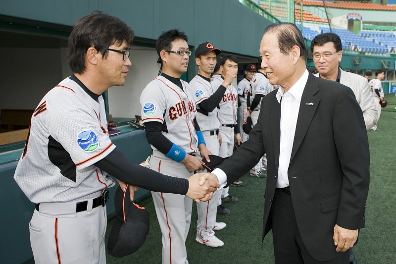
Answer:
[{"label": "black suit lapel with small pin, right of the white shirt", "polygon": [[319,91],[317,78],[309,74],[304,91],[302,92],[290,162],[292,162],[296,155],[315,114],[316,108],[319,105],[320,99],[314,96],[317,91]]}]

